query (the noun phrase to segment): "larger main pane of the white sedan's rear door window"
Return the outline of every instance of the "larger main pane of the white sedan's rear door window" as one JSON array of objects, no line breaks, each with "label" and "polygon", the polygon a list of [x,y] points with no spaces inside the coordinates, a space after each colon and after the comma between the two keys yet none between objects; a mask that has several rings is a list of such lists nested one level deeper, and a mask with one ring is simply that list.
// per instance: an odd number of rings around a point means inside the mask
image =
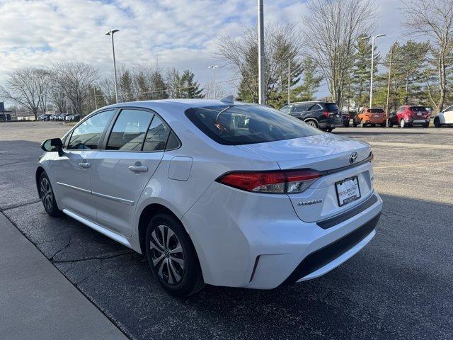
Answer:
[{"label": "larger main pane of the white sedan's rear door window", "polygon": [[108,150],[141,151],[153,114],[141,110],[122,110],[108,137]]}]

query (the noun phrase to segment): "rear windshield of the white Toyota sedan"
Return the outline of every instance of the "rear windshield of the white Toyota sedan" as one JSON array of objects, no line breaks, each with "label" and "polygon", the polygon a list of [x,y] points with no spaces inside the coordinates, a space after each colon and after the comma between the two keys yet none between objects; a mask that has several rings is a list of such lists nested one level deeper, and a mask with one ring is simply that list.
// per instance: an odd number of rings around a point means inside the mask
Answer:
[{"label": "rear windshield of the white Toyota sedan", "polygon": [[297,118],[266,106],[189,108],[185,115],[197,128],[222,145],[290,140],[323,133]]}]

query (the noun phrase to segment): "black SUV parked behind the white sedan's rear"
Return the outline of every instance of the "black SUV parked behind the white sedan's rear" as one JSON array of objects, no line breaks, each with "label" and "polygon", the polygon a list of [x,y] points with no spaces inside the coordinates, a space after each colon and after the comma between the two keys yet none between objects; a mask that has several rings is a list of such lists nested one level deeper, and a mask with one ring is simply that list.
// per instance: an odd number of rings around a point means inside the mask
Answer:
[{"label": "black SUV parked behind the white sedan's rear", "polygon": [[327,101],[302,101],[280,108],[283,113],[304,120],[308,125],[331,132],[343,126],[340,111],[336,103]]}]

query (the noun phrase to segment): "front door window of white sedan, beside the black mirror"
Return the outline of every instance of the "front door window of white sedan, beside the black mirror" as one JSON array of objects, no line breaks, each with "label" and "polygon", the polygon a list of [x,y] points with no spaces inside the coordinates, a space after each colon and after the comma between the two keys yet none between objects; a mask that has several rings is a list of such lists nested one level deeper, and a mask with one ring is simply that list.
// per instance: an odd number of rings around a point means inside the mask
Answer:
[{"label": "front door window of white sedan, beside the black mirror", "polygon": [[114,110],[96,113],[74,129],[69,140],[68,149],[98,149],[102,132],[112,117]]}]

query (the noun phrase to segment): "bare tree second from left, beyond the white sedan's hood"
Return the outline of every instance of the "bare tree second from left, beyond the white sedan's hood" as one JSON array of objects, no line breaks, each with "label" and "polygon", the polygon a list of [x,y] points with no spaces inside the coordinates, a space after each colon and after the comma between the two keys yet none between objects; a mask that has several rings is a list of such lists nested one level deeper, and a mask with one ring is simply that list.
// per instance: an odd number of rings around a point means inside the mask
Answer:
[{"label": "bare tree second from left, beyond the white sedan's hood", "polygon": [[83,62],[56,64],[54,69],[55,81],[64,90],[76,113],[82,115],[82,105],[98,80],[98,71]]}]

